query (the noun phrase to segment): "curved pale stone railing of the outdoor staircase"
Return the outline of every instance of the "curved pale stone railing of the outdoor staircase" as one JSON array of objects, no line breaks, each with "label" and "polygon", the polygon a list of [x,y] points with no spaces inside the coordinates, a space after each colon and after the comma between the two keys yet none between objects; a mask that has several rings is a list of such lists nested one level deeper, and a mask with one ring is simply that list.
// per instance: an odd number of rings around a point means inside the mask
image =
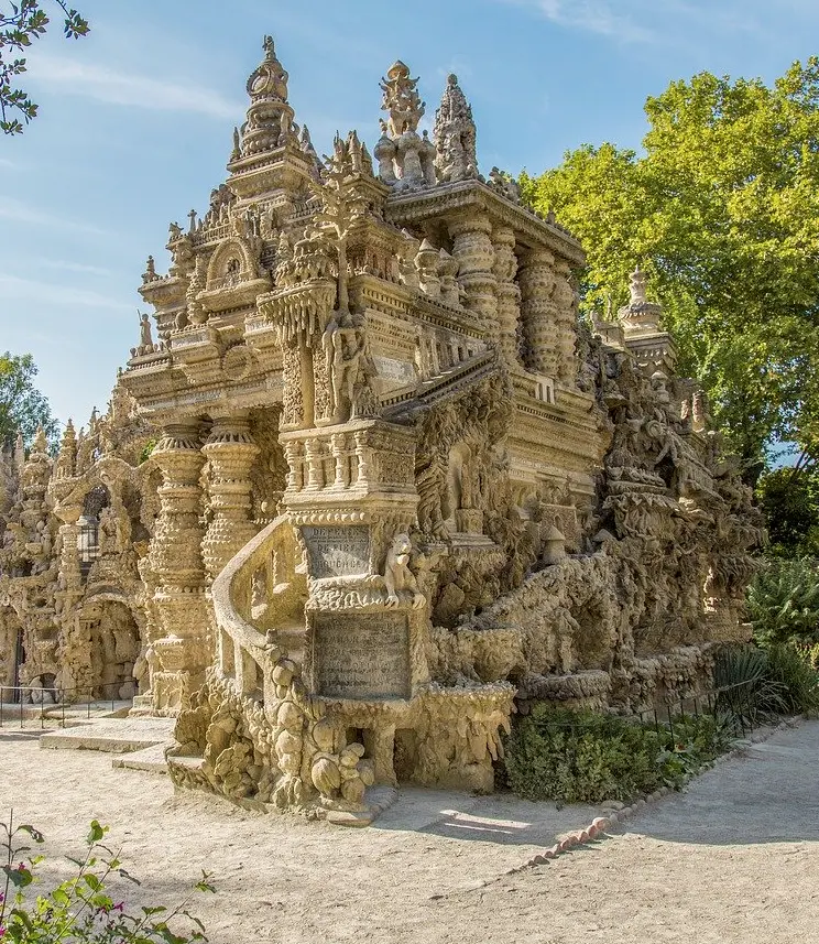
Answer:
[{"label": "curved pale stone railing of the outdoor staircase", "polygon": [[275,633],[276,658],[303,626],[306,577],[286,516],[271,521],[214,580],[217,670],[237,694],[264,701],[264,666]]}]

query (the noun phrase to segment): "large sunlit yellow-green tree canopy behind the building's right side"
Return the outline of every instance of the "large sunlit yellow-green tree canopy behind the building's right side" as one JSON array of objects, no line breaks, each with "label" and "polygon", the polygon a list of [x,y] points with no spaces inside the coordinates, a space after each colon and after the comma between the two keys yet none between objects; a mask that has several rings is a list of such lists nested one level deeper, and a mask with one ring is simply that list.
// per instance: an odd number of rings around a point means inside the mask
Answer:
[{"label": "large sunlit yellow-green tree canopy behind the building's right side", "polygon": [[627,299],[636,262],[749,477],[771,443],[819,458],[819,59],[772,87],[701,73],[645,105],[644,153],[568,152],[524,198],[588,252],[583,307]]}]

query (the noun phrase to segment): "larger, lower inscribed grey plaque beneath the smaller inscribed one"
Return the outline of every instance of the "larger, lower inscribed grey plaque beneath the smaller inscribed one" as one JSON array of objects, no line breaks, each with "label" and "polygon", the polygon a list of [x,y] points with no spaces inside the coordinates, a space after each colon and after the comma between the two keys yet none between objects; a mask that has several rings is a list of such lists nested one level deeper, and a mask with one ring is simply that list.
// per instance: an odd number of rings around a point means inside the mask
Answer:
[{"label": "larger, lower inscribed grey plaque beneath the smaller inscribed one", "polygon": [[397,614],[316,614],[315,679],[319,695],[408,698],[410,632]]}]

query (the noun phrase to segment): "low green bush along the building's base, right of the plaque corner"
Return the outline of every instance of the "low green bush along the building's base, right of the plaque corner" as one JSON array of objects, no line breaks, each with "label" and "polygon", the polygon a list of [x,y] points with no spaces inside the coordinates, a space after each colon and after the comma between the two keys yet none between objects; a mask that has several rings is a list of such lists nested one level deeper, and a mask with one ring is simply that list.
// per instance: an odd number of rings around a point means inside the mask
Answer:
[{"label": "low green bush along the building's base, right of the plaque corner", "polygon": [[527,800],[627,801],[681,786],[723,749],[714,718],[678,718],[674,731],[626,718],[535,705],[505,744],[509,786]]}]

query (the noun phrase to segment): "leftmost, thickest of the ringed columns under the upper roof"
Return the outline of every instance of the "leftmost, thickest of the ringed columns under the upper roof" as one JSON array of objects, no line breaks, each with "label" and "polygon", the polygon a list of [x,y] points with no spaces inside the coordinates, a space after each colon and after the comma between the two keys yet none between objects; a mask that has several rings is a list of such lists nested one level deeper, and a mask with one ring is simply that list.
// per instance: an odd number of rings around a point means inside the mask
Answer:
[{"label": "leftmost, thickest of the ringed columns under the upper roof", "polygon": [[474,312],[490,338],[498,338],[496,279],[492,271],[494,249],[492,224],[478,213],[449,221],[452,256],[458,260],[458,282],[463,286],[466,306]]}]

